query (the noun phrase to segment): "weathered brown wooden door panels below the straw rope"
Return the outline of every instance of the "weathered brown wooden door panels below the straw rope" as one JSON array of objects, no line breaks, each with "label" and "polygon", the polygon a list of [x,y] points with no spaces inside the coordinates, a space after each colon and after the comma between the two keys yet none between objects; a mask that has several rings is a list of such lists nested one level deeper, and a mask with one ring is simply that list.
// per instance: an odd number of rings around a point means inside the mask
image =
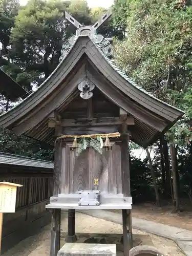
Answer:
[{"label": "weathered brown wooden door panels below the straw rope", "polygon": [[72,143],[67,143],[62,148],[61,194],[95,189],[94,179],[101,193],[122,193],[120,142],[111,144],[111,149],[103,148],[102,155],[88,147],[77,156]]}]

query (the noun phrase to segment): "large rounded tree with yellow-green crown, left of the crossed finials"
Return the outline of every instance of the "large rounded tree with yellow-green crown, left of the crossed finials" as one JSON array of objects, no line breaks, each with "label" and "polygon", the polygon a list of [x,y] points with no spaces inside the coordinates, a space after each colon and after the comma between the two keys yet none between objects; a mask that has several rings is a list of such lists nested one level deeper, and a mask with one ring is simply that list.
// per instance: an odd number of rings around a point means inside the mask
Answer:
[{"label": "large rounded tree with yellow-green crown, left of the crossed finials", "polygon": [[11,34],[13,52],[27,72],[35,72],[33,82],[37,84],[58,65],[67,33],[67,7],[69,3],[57,0],[30,0],[16,16]]}]

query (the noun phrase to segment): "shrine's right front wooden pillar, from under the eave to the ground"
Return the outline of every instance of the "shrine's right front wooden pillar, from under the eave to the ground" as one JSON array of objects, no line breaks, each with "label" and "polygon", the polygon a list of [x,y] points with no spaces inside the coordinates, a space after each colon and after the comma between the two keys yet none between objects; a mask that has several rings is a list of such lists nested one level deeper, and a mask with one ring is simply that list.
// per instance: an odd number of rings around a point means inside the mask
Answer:
[{"label": "shrine's right front wooden pillar, from under the eave to the ground", "polygon": [[[130,159],[129,159],[130,134],[127,131],[127,124],[126,124],[127,115],[122,110],[120,110],[120,118],[123,121],[123,123],[121,124],[122,194],[124,195],[124,197],[131,197]],[[129,256],[129,251],[133,247],[131,209],[122,210],[122,224],[123,224],[123,255]]]}]

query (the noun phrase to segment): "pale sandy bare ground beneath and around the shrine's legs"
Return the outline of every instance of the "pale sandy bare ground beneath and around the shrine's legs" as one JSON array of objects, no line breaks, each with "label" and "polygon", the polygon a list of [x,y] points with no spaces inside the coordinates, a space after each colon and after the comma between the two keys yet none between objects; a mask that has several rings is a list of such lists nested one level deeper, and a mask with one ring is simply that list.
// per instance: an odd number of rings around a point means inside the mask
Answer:
[{"label": "pale sandy bare ground beneath and around the shrine's legs", "polygon": [[[61,232],[67,231],[67,214],[62,214]],[[93,218],[83,214],[76,214],[77,233],[122,233],[122,226],[109,221]],[[165,255],[184,256],[177,245],[168,239],[163,239],[153,234],[140,230],[133,230],[134,246],[154,245]],[[65,243],[61,238],[61,245]],[[25,239],[2,256],[49,256],[50,251],[50,225],[42,229],[36,236]],[[118,255],[122,255],[119,251]]]}]

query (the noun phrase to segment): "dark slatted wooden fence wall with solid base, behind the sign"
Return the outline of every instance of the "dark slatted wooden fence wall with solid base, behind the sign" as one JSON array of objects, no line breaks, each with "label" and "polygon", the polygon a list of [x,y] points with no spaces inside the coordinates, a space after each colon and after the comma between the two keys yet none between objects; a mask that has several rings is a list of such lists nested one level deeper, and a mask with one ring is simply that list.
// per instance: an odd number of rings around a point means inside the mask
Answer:
[{"label": "dark slatted wooden fence wall with solid base, behind the sign", "polygon": [[28,162],[23,161],[22,165],[22,162],[19,161],[20,166],[15,165],[15,162],[14,164],[11,162],[5,164],[1,162],[1,154],[0,181],[23,185],[23,187],[17,188],[15,213],[4,214],[3,253],[21,240],[36,234],[51,221],[51,214],[46,209],[46,205],[52,196],[53,163],[40,160],[36,160],[35,163],[34,159],[32,159],[33,163],[30,163],[31,159],[26,158]]}]

